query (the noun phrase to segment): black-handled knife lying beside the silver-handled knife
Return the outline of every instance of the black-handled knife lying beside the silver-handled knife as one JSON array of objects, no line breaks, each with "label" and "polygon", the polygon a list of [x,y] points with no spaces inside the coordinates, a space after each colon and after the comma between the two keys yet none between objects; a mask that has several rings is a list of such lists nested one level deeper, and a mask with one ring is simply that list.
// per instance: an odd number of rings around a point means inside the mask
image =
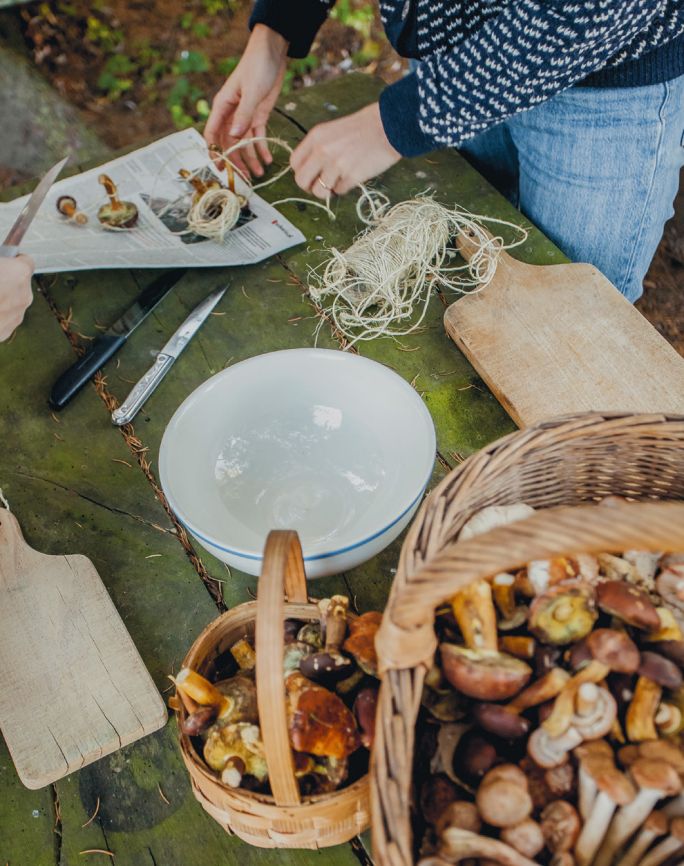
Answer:
[{"label": "black-handled knife lying beside the silver-handled knife", "polygon": [[63,409],[66,406],[88,379],[94,376],[100,367],[103,367],[123,346],[143,319],[152,312],[186,272],[186,268],[167,271],[138,295],[123,316],[117,319],[104,334],[97,337],[85,355],[62,373],[55,382],[48,401],[51,409]]}]

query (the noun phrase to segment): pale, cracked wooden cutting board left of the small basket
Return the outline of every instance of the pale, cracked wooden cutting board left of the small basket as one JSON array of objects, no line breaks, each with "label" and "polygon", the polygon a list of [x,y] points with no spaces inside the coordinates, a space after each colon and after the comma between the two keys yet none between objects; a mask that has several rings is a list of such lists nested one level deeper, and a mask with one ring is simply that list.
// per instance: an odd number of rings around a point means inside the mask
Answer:
[{"label": "pale, cracked wooden cutting board left of the small basket", "polygon": [[21,781],[41,788],[165,721],[92,562],[32,550],[0,509],[0,730]]}]

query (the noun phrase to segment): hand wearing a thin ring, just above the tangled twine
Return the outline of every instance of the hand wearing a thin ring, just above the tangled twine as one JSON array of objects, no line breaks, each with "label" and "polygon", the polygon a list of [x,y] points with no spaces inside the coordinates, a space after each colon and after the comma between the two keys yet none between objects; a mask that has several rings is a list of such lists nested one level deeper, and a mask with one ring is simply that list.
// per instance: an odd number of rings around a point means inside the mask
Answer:
[{"label": "hand wearing a thin ring, just above the tangled twine", "polygon": [[298,186],[325,199],[332,192],[349,192],[400,159],[374,102],[355,114],[314,126],[292,154],[290,165]]}]

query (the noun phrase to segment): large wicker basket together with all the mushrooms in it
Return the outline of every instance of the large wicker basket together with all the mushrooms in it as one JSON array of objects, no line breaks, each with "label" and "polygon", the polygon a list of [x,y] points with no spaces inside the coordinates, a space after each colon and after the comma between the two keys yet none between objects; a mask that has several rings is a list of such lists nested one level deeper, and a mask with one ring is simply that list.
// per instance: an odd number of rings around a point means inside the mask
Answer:
[{"label": "large wicker basket together with all the mushrooms in it", "polygon": [[521,430],[436,487],[376,636],[380,866],[684,864],[684,418]]}]

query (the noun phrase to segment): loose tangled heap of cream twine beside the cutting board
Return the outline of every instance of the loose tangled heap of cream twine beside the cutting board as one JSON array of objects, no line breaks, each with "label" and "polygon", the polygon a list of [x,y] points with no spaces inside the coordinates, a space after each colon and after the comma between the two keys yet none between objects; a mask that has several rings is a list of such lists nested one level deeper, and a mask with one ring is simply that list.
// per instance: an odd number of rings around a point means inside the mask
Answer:
[{"label": "loose tangled heap of cream twine beside the cutting board", "polygon": [[[362,187],[357,213],[368,226],[346,250],[312,269],[309,291],[349,346],[382,335],[405,336],[427,313],[432,290],[472,294],[492,281],[502,250],[524,243],[527,230],[506,220],[448,208],[429,194],[389,206],[386,196]],[[506,244],[481,223],[507,226],[519,238]],[[453,239],[466,235],[470,261],[451,264]],[[415,317],[419,310],[418,318]]]}]

